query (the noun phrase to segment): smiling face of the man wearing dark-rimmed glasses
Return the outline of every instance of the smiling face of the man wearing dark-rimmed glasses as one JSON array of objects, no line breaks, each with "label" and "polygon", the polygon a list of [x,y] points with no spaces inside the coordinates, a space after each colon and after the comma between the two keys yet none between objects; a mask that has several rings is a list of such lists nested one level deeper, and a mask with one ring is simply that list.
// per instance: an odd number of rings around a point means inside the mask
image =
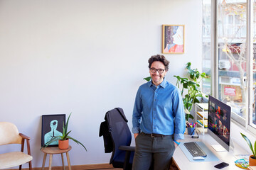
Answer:
[{"label": "smiling face of the man wearing dark-rimmed glasses", "polygon": [[[164,72],[161,74],[159,73],[159,71],[156,71],[155,73],[153,73],[151,72],[150,69],[163,69]],[[149,69],[149,74],[151,76],[152,82],[154,85],[158,86],[164,80],[164,77],[166,75],[164,64],[162,62],[153,62],[151,64],[150,69]]]}]

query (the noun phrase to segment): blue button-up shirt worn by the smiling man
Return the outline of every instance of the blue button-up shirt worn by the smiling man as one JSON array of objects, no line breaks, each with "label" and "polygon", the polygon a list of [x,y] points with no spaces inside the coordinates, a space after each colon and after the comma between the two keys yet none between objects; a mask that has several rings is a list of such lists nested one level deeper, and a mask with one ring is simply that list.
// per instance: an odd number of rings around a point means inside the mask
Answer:
[{"label": "blue button-up shirt worn by the smiling man", "polygon": [[158,87],[151,81],[139,86],[132,125],[133,133],[142,131],[184,139],[186,123],[181,92],[166,79]]}]

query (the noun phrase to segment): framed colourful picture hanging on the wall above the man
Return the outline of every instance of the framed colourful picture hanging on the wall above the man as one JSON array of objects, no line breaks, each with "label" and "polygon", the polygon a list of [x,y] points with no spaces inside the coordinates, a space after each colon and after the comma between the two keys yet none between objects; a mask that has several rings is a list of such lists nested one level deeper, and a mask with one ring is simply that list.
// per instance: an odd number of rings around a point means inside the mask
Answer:
[{"label": "framed colourful picture hanging on the wall above the man", "polygon": [[183,54],[185,25],[163,25],[163,54]]}]

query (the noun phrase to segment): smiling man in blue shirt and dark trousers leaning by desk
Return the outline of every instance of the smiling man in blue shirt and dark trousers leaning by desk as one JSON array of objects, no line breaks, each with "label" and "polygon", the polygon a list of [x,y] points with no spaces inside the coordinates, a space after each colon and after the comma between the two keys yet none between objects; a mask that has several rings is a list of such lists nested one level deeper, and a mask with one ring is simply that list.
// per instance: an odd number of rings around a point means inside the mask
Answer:
[{"label": "smiling man in blue shirt and dark trousers leaning by desk", "polygon": [[137,91],[132,115],[136,142],[133,170],[169,169],[171,157],[186,129],[181,93],[164,78],[169,61],[164,55],[149,58],[151,81]]}]

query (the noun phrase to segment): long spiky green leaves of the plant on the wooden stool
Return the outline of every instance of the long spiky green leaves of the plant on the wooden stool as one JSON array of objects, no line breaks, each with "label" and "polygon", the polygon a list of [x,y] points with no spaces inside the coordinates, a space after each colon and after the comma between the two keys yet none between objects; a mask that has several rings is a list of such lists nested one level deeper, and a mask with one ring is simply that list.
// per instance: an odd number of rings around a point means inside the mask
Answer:
[{"label": "long spiky green leaves of the plant on the wooden stool", "polygon": [[[71,115],[71,113],[70,113],[70,115]],[[67,120],[66,124],[64,125],[64,123],[63,123],[63,134],[53,137],[53,138],[52,138],[49,142],[47,142],[46,145],[44,145],[43,147],[48,147],[48,145],[50,145],[50,143],[55,142],[55,141],[58,141],[58,140],[68,140],[68,139],[73,140],[73,141],[76,142],[78,145],[82,145],[81,142],[79,142],[78,140],[75,140],[75,138],[69,136],[69,134],[70,134],[70,132],[71,132],[71,130],[68,132],[68,122],[69,122],[69,119],[70,119],[70,115],[68,116],[68,120]],[[42,149],[43,147],[41,147],[41,149]],[[82,145],[82,147],[85,148],[84,145]],[[85,150],[87,151],[86,148],[85,148]]]}]

